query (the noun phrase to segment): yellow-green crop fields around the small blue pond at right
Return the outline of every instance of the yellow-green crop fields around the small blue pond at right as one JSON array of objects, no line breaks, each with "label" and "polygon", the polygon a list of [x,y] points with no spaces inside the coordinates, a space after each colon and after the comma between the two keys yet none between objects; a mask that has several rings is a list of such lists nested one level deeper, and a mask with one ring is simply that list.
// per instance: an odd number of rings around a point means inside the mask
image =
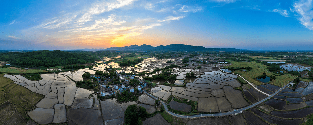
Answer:
[{"label": "yellow-green crop fields around the small blue pond at right", "polygon": [[[269,72],[267,67],[267,65],[263,65],[261,63],[257,63],[255,61],[251,61],[251,62],[235,62],[235,61],[231,61],[231,63],[233,65],[229,65],[229,66],[225,66],[225,68],[228,67],[252,67],[252,70],[250,70],[249,72],[246,71],[240,71],[240,70],[235,70],[233,71],[233,73],[235,74],[239,74],[242,77],[244,77],[244,79],[247,79],[249,82],[254,83],[256,85],[261,85],[262,83],[259,80],[256,80],[256,78],[260,75],[262,75],[264,72],[266,73],[266,75],[273,75],[272,72]],[[293,79],[295,79],[295,77],[292,76],[287,76],[287,75],[281,75],[281,76],[276,76],[276,79],[273,80],[272,82],[270,82],[270,84],[276,85],[276,86],[280,86],[280,85],[285,85],[288,84],[290,81],[292,81]]]}]

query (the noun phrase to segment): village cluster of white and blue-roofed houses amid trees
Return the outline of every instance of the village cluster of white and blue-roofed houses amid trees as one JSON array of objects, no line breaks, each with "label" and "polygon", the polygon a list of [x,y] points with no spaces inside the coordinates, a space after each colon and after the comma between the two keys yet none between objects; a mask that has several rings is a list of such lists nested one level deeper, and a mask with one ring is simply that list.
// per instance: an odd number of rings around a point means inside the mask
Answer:
[{"label": "village cluster of white and blue-roofed houses amid trees", "polygon": [[[111,96],[112,94],[116,96],[116,94],[121,94],[124,91],[128,91],[131,93],[134,92],[135,89],[138,89],[140,92],[142,92],[142,88],[147,86],[147,83],[143,79],[135,78],[134,75],[122,75],[122,73],[125,73],[125,71],[122,71],[121,73],[116,72],[120,84],[114,84],[114,82],[112,82],[112,79],[116,78],[96,77],[92,75],[92,77],[95,77],[100,84],[101,96]],[[104,79],[103,81],[101,80],[102,78]],[[140,81],[140,85],[129,85],[131,79],[137,79],[138,81]],[[112,82],[113,84],[108,84],[109,82]]]}]

